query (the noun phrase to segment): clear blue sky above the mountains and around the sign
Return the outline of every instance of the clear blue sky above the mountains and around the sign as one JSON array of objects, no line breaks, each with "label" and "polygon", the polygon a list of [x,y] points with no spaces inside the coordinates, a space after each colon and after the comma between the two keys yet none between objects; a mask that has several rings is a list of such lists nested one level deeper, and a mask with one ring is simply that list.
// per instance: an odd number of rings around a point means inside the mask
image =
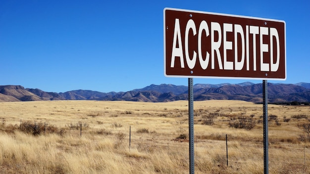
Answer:
[{"label": "clear blue sky above the mountains and around the sign", "polygon": [[164,7],[286,21],[287,80],[268,82],[310,83],[309,0],[0,0],[0,85],[49,92],[187,86],[186,78],[163,75]]}]

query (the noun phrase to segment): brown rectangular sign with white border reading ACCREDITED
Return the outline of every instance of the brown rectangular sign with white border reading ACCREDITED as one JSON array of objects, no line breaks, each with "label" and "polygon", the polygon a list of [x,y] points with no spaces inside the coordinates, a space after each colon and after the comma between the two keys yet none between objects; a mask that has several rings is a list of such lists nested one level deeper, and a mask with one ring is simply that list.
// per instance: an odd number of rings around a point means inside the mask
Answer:
[{"label": "brown rectangular sign with white border reading ACCREDITED", "polygon": [[166,77],[286,80],[285,21],[165,8]]}]

